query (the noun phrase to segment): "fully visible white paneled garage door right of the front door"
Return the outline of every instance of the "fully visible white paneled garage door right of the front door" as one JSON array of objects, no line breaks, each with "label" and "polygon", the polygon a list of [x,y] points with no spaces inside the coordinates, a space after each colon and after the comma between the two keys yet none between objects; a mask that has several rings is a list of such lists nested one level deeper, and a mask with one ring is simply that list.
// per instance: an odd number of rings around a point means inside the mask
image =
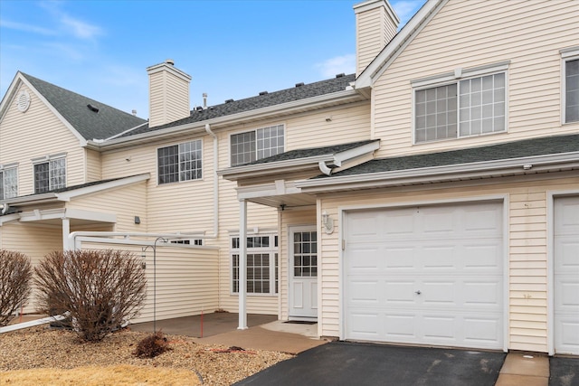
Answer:
[{"label": "fully visible white paneled garage door right of the front door", "polygon": [[502,204],[346,213],[346,339],[503,348]]}]

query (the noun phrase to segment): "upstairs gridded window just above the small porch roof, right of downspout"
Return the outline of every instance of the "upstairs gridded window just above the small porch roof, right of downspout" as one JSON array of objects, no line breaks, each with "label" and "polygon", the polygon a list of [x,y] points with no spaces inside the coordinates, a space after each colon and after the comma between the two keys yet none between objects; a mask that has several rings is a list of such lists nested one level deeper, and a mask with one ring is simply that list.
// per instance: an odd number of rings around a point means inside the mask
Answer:
[{"label": "upstairs gridded window just above the small porch roof, right of downspout", "polygon": [[249,164],[284,151],[284,127],[262,127],[231,137],[232,166]]}]

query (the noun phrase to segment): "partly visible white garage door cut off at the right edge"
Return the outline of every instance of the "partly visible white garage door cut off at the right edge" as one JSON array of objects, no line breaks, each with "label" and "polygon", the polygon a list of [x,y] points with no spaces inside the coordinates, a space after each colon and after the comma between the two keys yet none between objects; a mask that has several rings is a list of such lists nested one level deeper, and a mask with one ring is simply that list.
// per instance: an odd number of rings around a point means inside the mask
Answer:
[{"label": "partly visible white garage door cut off at the right edge", "polygon": [[555,199],[555,353],[579,355],[579,197]]}]

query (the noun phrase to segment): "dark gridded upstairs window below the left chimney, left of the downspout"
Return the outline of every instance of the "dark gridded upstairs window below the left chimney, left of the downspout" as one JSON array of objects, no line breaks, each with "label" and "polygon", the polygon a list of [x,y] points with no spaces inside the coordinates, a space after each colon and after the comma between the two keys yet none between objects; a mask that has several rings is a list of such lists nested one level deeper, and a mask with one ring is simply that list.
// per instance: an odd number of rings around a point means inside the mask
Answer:
[{"label": "dark gridded upstairs window below the left chimney, left of the downspout", "polygon": [[157,149],[158,183],[198,180],[202,172],[201,139]]}]

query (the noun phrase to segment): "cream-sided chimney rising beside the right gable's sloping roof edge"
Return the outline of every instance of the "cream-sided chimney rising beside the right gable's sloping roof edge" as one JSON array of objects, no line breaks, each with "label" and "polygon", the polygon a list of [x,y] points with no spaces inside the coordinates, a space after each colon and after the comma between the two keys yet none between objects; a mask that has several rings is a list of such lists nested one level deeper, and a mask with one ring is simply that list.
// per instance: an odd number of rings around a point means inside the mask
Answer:
[{"label": "cream-sided chimney rising beside the right gable's sloping roof edge", "polygon": [[358,76],[397,33],[400,19],[386,0],[367,0],[354,5],[354,13]]}]

